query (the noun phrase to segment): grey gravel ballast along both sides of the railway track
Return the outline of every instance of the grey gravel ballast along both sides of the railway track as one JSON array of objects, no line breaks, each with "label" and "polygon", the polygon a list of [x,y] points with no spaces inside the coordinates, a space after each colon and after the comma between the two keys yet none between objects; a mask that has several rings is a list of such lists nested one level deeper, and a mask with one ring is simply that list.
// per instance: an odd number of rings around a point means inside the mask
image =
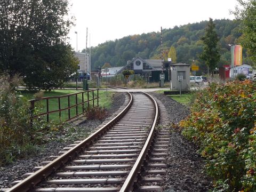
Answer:
[{"label": "grey gravel ballast along both sides of the railway track", "polygon": [[[169,121],[179,123],[181,119],[189,115],[189,109],[185,105],[174,101],[163,94],[151,92],[153,97],[162,101],[168,114]],[[109,114],[114,114],[125,101],[125,93],[115,93],[113,105]],[[72,129],[64,129],[55,134],[52,141],[46,143],[44,148],[38,151],[36,156],[19,159],[11,165],[0,167],[0,188],[11,187],[10,183],[21,180],[21,175],[33,172],[35,166],[51,155],[57,155],[63,147],[67,147],[74,140],[81,140],[87,137],[93,129],[99,126],[102,121],[86,121],[84,124],[74,126]],[[69,127],[70,128],[70,127]],[[207,191],[212,188],[211,180],[203,174],[203,159],[196,153],[193,143],[187,141],[175,130],[170,131],[169,156],[167,159],[167,175],[164,181],[164,189],[167,192],[185,191]]]}]

